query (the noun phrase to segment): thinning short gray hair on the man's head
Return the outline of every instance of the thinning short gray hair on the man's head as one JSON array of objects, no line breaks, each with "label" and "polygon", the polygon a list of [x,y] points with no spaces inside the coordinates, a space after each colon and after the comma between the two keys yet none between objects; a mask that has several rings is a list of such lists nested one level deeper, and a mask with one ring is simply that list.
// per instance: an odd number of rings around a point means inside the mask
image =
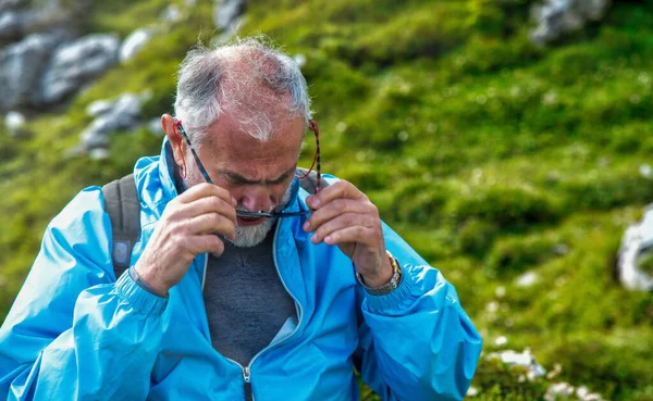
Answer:
[{"label": "thinning short gray hair on the man's head", "polygon": [[273,118],[303,116],[308,125],[312,114],[299,65],[260,36],[214,49],[199,43],[180,65],[174,113],[198,147],[225,111],[261,141],[270,139]]}]

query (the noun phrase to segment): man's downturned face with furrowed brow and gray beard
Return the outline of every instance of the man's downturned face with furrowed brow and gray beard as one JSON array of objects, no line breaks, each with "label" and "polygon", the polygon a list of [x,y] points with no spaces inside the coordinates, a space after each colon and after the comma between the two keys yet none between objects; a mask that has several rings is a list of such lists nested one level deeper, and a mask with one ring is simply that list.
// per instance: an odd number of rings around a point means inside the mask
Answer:
[{"label": "man's downturned face with furrowed brow and gray beard", "polygon": [[[226,112],[207,128],[208,140],[199,150],[199,159],[215,185],[229,190],[236,199],[237,210],[271,212],[288,201],[304,138],[304,120],[278,121],[273,122],[273,127],[271,139],[261,142],[243,133]],[[185,184],[205,183],[192,154],[186,153],[188,173]],[[238,247],[252,247],[266,238],[273,225],[272,218],[237,217],[233,242]]]}]

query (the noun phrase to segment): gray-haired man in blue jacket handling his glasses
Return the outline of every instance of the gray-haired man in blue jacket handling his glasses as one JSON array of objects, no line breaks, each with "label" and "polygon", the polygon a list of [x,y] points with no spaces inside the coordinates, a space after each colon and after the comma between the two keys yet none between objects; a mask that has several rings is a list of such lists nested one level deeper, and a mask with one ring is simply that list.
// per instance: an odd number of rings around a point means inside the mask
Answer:
[{"label": "gray-haired man in blue jacket handling his glasses", "polygon": [[134,168],[127,271],[104,192],[82,190],[0,330],[0,399],[355,400],[354,368],[383,400],[463,399],[479,334],[365,193],[300,185],[310,114],[260,40],[190,51],[161,155]]}]

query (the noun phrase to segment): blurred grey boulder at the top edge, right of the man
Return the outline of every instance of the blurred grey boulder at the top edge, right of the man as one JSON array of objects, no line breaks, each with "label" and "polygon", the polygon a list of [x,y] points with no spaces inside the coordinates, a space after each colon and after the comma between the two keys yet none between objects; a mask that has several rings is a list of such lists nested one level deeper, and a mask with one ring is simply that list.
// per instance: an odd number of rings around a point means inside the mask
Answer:
[{"label": "blurred grey boulder at the top edge, right of the man", "polygon": [[568,33],[582,28],[589,22],[601,21],[611,0],[544,0],[531,9],[538,26],[530,32],[535,45],[549,45]]}]

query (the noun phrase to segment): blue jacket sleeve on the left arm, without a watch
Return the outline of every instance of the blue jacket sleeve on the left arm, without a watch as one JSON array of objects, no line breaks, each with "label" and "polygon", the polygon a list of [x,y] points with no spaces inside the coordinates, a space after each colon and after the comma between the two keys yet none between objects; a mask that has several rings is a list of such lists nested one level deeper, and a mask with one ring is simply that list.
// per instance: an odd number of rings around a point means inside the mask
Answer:
[{"label": "blue jacket sleeve on the left arm, without a watch", "polygon": [[49,224],[0,327],[0,400],[144,400],[168,300],[115,281],[98,187]]}]

